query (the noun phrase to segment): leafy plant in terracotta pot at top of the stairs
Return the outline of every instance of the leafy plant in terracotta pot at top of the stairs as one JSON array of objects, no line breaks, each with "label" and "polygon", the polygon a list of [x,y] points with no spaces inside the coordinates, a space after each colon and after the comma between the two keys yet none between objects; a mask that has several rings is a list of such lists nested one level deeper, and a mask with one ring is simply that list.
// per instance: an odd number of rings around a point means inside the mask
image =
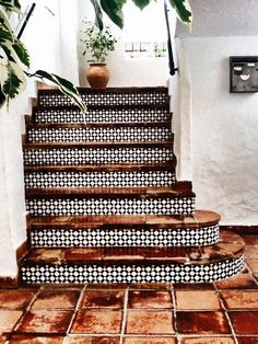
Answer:
[{"label": "leafy plant in terracotta pot at top of the stairs", "polygon": [[86,71],[86,79],[93,89],[105,89],[109,81],[109,70],[106,67],[106,60],[110,51],[115,50],[116,37],[112,34],[109,26],[103,26],[99,30],[93,22],[83,21],[85,28],[81,31],[83,38],[80,39],[85,49],[90,62]]}]

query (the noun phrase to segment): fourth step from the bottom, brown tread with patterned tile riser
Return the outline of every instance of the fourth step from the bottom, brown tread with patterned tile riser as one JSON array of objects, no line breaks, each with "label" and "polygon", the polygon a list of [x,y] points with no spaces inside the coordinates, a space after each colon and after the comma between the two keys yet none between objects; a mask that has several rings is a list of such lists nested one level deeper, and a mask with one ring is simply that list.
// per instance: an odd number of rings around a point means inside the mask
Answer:
[{"label": "fourth step from the bottom, brown tread with patterned tile riser", "polygon": [[175,182],[171,164],[30,167],[24,174],[26,188],[172,186]]}]

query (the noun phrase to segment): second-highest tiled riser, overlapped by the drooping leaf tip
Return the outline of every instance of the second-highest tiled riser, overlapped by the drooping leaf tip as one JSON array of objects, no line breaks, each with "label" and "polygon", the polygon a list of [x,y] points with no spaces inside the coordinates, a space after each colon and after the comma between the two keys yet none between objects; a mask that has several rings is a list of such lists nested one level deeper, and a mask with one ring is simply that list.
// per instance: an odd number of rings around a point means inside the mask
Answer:
[{"label": "second-highest tiled riser, overlapped by the drooping leaf tip", "polygon": [[167,122],[171,114],[167,108],[140,108],[140,107],[104,107],[91,108],[84,116],[75,108],[37,108],[34,112],[34,121],[37,124],[45,123],[149,123]]}]

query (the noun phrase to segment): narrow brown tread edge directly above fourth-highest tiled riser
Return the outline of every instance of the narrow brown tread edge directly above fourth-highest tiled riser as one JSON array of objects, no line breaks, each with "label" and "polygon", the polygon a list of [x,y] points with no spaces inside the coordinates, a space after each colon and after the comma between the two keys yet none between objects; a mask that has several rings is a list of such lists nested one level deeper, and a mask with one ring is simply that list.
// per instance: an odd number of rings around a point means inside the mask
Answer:
[{"label": "narrow brown tread edge directly above fourth-highest tiled riser", "polygon": [[173,148],[171,141],[121,141],[121,142],[26,142],[24,149],[80,149],[80,148]]}]

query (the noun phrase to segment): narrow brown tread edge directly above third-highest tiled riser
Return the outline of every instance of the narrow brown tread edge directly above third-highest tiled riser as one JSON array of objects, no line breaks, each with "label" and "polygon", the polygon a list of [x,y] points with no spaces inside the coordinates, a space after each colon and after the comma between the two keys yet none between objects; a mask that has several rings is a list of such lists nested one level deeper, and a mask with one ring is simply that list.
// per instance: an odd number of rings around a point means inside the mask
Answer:
[{"label": "narrow brown tread edge directly above third-highest tiled riser", "polygon": [[[31,117],[31,116],[28,116]],[[156,127],[171,127],[169,121],[161,121],[161,122],[114,122],[114,123],[50,123],[50,124],[35,124],[32,121],[26,122],[27,129],[59,129],[59,128],[156,128]]]}]

